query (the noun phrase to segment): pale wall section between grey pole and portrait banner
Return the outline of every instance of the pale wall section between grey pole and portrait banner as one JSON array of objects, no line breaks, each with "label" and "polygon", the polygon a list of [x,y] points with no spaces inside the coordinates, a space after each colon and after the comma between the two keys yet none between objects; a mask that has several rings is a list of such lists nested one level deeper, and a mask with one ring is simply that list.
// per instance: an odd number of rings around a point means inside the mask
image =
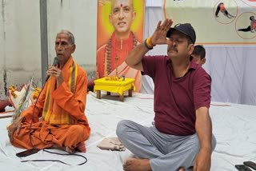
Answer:
[{"label": "pale wall section between grey pole and portrait banner", "polygon": [[55,57],[54,42],[58,31],[70,30],[74,34],[76,50],[74,59],[94,77],[96,70],[97,3],[91,0],[48,0],[48,50],[49,62]]}]

